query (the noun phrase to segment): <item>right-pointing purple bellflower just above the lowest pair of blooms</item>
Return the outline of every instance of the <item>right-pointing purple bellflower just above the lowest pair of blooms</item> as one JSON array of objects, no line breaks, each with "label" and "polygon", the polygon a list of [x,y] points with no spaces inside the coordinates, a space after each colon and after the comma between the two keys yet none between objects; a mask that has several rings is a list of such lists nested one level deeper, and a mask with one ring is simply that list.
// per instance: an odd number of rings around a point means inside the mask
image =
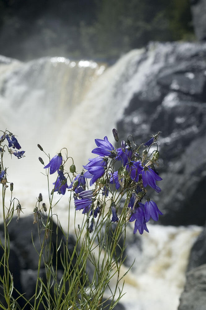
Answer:
[{"label": "right-pointing purple bellflower just above the lowest pair of blooms", "polygon": [[160,193],[160,188],[156,185],[156,181],[161,181],[162,178],[160,178],[160,176],[157,175],[154,170],[149,167],[142,167],[140,165],[138,172],[142,175],[142,183],[144,187],[149,185],[151,188],[154,188],[157,193]]}]

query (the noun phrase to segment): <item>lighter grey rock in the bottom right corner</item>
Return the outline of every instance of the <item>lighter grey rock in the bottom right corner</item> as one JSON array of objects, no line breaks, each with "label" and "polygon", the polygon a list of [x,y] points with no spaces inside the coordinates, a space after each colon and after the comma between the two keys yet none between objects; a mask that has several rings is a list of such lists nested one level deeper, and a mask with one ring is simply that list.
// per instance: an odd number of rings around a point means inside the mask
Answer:
[{"label": "lighter grey rock in the bottom right corner", "polygon": [[178,310],[205,310],[206,264],[187,273],[186,286]]}]

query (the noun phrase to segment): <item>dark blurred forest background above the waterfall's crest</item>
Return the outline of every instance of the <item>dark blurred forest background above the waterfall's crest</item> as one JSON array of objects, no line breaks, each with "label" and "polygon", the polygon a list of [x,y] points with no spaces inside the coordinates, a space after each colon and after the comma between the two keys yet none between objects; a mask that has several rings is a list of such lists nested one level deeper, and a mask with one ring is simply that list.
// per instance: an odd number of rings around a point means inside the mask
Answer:
[{"label": "dark blurred forest background above the waterfall's crest", "polygon": [[0,0],[0,54],[116,60],[149,41],[194,40],[189,0]]}]

